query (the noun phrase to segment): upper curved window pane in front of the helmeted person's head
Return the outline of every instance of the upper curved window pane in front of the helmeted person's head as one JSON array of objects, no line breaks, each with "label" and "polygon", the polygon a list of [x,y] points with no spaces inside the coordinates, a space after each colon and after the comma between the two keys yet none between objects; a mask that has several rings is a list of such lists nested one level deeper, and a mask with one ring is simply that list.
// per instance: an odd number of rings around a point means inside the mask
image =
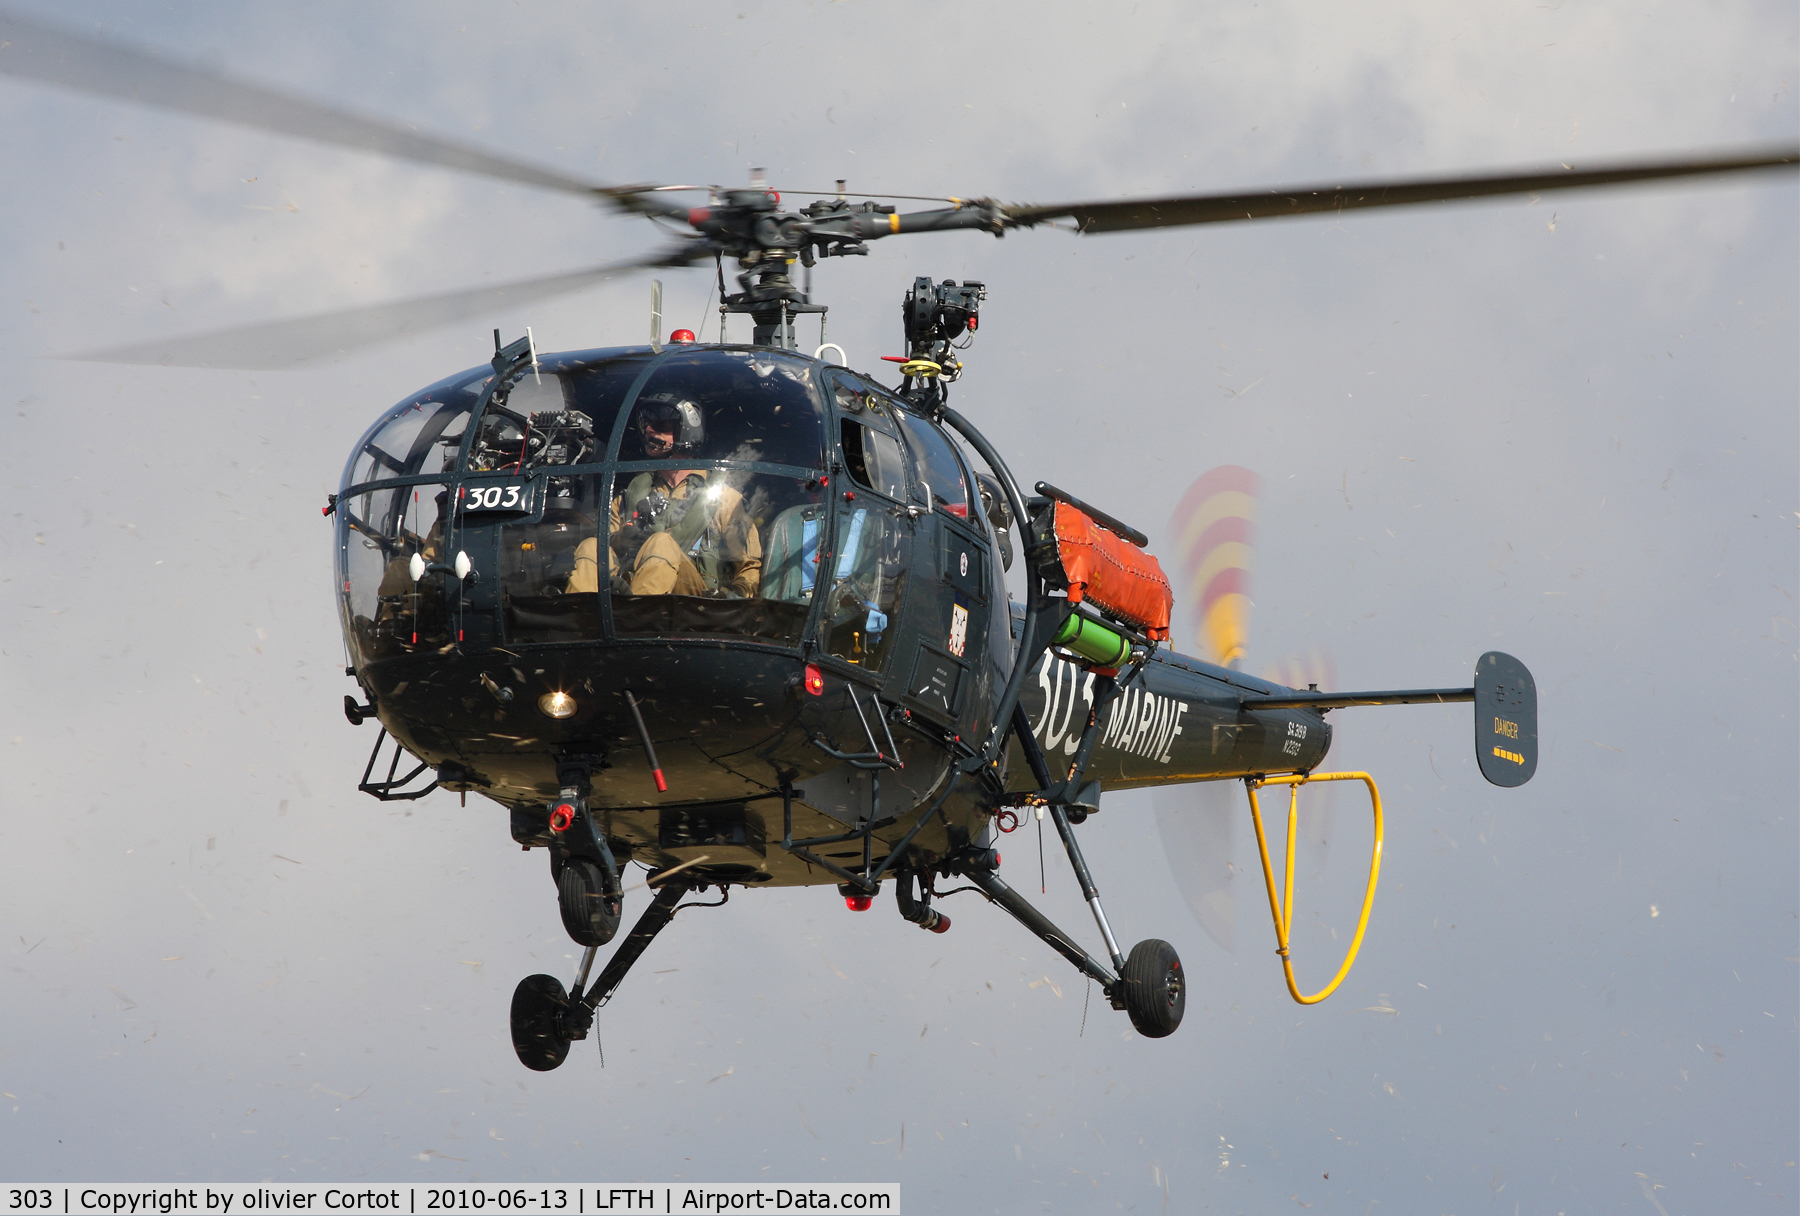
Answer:
[{"label": "upper curved window pane in front of the helmeted person's head", "polygon": [[621,460],[758,460],[819,468],[821,401],[805,360],[770,351],[664,356],[637,392]]}]

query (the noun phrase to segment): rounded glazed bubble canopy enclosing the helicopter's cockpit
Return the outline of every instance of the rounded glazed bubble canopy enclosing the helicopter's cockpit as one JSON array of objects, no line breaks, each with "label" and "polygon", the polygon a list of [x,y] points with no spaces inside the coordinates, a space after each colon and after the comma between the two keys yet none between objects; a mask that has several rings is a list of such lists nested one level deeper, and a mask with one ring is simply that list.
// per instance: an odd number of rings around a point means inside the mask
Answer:
[{"label": "rounded glazed bubble canopy enclosing the helicopter's cockpit", "polygon": [[632,633],[792,646],[824,588],[828,653],[880,667],[911,520],[983,531],[972,486],[889,390],[783,351],[544,356],[506,385],[482,367],[391,410],[346,466],[346,633],[358,662]]}]

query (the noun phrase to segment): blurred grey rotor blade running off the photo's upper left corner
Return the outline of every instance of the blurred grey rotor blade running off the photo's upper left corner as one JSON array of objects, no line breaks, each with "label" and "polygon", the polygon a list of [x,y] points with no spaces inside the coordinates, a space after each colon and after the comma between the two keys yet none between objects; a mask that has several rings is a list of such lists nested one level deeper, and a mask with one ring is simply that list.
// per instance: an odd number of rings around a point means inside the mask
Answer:
[{"label": "blurred grey rotor blade running off the photo's upper left corner", "polygon": [[554,169],[409,131],[380,119],[364,119],[317,101],[232,81],[148,50],[41,25],[4,11],[0,11],[0,72],[277,135],[299,135],[320,144],[484,173],[549,191],[569,191],[589,198],[607,196],[608,191],[605,185]]}]

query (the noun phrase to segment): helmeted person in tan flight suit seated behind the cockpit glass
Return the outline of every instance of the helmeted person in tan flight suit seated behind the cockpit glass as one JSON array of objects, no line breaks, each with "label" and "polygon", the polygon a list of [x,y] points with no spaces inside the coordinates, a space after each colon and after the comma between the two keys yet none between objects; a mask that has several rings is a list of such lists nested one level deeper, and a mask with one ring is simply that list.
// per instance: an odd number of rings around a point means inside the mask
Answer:
[{"label": "helmeted person in tan flight suit seated behind the cockpit glass", "polygon": [[[700,407],[659,394],[635,410],[644,459],[693,452],[706,437]],[[713,595],[752,599],[761,581],[763,549],[725,469],[639,473],[612,500],[607,574],[621,595]],[[599,543],[574,550],[574,592],[599,590]]]}]

